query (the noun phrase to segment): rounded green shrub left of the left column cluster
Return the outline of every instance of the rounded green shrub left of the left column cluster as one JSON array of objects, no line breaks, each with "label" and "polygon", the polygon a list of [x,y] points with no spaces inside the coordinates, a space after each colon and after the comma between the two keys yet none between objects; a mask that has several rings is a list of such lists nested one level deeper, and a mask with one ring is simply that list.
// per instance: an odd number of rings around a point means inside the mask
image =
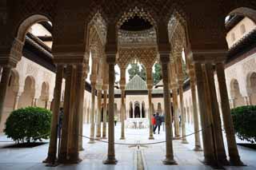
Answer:
[{"label": "rounded green shrub left of the left column cluster", "polygon": [[7,118],[4,132],[17,143],[48,139],[51,115],[49,110],[36,107],[14,110]]}]

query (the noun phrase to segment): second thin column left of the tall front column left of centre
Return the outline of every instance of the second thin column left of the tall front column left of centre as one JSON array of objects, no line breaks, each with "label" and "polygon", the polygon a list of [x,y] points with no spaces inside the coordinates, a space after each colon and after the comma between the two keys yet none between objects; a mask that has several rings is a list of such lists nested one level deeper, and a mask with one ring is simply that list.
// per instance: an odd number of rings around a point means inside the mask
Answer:
[{"label": "second thin column left of the tall front column left of centre", "polygon": [[101,138],[102,133],[102,87],[97,88],[97,125],[96,125],[96,139]]}]

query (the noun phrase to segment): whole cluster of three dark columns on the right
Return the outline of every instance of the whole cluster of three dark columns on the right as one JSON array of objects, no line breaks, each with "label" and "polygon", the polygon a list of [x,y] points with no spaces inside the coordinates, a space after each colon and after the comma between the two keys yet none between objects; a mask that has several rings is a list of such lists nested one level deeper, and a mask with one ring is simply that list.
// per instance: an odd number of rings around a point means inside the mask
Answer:
[{"label": "whole cluster of three dark columns on the right", "polygon": [[[190,57],[193,57],[191,54]],[[196,57],[195,57],[196,58]],[[206,164],[232,164],[242,165],[235,142],[234,127],[230,114],[230,105],[226,90],[224,65],[222,61],[206,61],[204,63],[194,60],[194,72],[198,89],[198,103],[202,124],[203,151]],[[215,66],[215,67],[214,67]],[[222,117],[224,121],[226,140],[230,163],[226,160],[226,152],[223,144],[222,122],[218,110],[218,100],[214,84],[214,68],[218,76],[218,86],[222,104]]]}]

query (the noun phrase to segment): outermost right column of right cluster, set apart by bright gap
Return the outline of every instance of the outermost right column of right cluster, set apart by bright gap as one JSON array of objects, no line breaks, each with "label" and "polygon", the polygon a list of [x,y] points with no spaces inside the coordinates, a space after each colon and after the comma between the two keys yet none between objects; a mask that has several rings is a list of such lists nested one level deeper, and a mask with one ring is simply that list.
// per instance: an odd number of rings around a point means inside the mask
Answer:
[{"label": "outermost right column of right cluster, set apart by bright gap", "polygon": [[222,119],[224,122],[224,127],[226,131],[226,140],[228,145],[228,151],[230,156],[230,164],[235,166],[244,165],[240,160],[240,156],[238,153],[238,147],[235,141],[234,136],[234,125],[230,113],[230,105],[229,99],[226,89],[226,77],[224,72],[224,65],[223,63],[218,63],[216,65],[216,71],[218,76],[218,87],[220,91],[220,98],[222,104]]}]

